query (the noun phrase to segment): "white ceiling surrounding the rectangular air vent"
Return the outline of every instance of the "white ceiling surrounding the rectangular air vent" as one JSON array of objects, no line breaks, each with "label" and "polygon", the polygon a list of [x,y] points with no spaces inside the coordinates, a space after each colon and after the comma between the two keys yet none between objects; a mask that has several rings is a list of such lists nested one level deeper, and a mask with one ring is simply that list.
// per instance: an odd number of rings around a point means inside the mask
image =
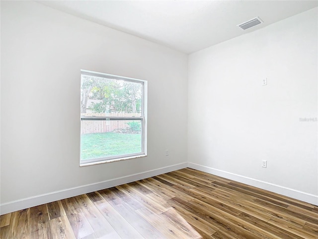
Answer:
[{"label": "white ceiling surrounding the rectangular air vent", "polygon": [[[184,53],[257,30],[318,6],[317,0],[37,1]],[[240,29],[258,16],[264,23]]]}]

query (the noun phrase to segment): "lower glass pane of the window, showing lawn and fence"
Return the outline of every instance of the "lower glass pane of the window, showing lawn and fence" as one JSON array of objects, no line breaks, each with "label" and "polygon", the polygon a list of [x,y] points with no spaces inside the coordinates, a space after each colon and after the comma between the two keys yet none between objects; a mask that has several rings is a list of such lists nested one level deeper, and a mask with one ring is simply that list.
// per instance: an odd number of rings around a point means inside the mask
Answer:
[{"label": "lower glass pane of the window, showing lawn and fence", "polygon": [[81,160],[142,152],[142,120],[81,120]]}]

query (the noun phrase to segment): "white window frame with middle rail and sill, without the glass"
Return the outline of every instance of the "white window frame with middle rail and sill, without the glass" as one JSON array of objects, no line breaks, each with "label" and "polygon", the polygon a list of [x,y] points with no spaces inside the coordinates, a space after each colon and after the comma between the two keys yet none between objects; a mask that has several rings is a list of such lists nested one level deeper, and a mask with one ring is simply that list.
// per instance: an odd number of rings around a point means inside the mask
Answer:
[{"label": "white window frame with middle rail and sill, without the glass", "polygon": [[[81,160],[79,157],[79,166],[88,166],[88,165],[94,165],[94,164],[100,164],[100,163],[109,163],[109,162],[115,162],[120,160],[126,160],[126,159],[132,159],[132,158],[139,158],[139,157],[145,157],[147,156],[147,96],[148,96],[148,82],[145,80],[139,80],[124,76],[116,76],[116,75],[110,75],[106,73],[100,73],[100,72],[94,72],[94,71],[87,71],[87,70],[80,70],[80,76],[82,75],[88,75],[88,76],[96,76],[96,77],[102,77],[107,79],[114,79],[114,80],[122,80],[122,81],[128,81],[128,82],[135,82],[142,84],[142,113],[141,117],[80,117],[80,120],[135,120],[140,119],[141,125],[142,125],[142,150],[139,153],[131,153],[131,154],[123,154],[123,155],[116,155],[116,156],[110,156],[110,157],[102,157],[102,158],[94,158],[94,159],[87,159],[87,160]],[[81,135],[80,135],[81,139]],[[81,144],[80,144],[81,145]],[[81,152],[81,148],[80,151]]]}]

